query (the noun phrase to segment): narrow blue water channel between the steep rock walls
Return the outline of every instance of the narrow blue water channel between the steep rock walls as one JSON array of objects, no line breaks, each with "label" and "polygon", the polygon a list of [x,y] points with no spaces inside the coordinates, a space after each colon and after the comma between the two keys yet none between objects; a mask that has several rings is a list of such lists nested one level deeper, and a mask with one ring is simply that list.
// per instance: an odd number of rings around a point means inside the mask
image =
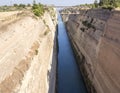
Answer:
[{"label": "narrow blue water channel between the steep rock walls", "polygon": [[60,15],[58,44],[58,93],[87,93]]}]

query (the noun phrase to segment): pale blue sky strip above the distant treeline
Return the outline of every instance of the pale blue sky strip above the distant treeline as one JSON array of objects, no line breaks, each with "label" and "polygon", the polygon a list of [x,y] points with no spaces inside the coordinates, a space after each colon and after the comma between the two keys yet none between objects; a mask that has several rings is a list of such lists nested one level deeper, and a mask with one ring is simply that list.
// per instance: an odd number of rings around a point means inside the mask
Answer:
[{"label": "pale blue sky strip above the distant treeline", "polygon": [[[60,6],[71,6],[71,5],[80,5],[80,4],[89,4],[94,3],[94,0],[35,0],[42,4],[54,4]],[[0,5],[13,5],[14,3],[20,4],[32,4],[33,0],[0,0]]]}]

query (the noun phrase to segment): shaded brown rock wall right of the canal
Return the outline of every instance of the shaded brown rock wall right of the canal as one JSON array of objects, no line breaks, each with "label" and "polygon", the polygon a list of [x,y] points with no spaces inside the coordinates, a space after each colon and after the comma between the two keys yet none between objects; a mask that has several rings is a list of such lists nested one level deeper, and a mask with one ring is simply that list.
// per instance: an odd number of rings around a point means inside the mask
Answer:
[{"label": "shaded brown rock wall right of the canal", "polygon": [[62,16],[88,93],[119,93],[120,11],[91,9]]}]

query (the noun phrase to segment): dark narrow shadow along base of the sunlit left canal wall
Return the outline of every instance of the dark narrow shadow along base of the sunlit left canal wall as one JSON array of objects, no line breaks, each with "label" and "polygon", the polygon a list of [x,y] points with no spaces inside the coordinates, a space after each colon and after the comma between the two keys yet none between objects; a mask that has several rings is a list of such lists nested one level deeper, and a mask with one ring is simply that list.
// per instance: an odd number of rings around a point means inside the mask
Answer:
[{"label": "dark narrow shadow along base of the sunlit left canal wall", "polygon": [[56,25],[56,32],[54,37],[54,47],[53,47],[53,54],[52,54],[52,64],[51,64],[51,70],[47,72],[48,75],[48,81],[49,81],[49,91],[48,93],[58,93],[57,92],[57,66],[58,66],[58,25]]}]

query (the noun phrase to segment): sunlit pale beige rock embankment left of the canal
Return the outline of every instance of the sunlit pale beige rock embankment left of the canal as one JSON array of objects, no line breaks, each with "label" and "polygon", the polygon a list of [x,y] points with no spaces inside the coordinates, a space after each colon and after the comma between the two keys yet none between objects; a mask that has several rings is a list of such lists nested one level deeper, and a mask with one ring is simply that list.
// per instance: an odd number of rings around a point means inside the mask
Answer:
[{"label": "sunlit pale beige rock embankment left of the canal", "polygon": [[0,17],[0,93],[55,92],[57,13],[52,13]]}]

